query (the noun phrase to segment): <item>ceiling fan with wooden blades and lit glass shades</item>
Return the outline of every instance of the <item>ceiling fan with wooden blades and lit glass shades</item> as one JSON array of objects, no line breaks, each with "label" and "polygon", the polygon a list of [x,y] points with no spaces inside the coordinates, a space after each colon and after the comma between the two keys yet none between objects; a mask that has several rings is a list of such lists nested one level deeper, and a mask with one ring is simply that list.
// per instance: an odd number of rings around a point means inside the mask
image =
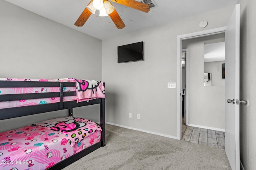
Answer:
[{"label": "ceiling fan with wooden blades and lit glass shades", "polygon": [[[138,2],[136,0],[111,0],[112,2],[116,2],[118,4],[122,4],[136,10],[140,10],[142,12],[149,12],[150,7],[147,4],[142,2]],[[122,29],[125,27],[124,22],[116,12],[114,6],[112,6],[109,0],[91,0],[89,4],[86,6],[75,25],[78,27],[82,27],[84,23],[88,20],[91,14],[95,14],[96,10],[100,10],[99,16],[110,16],[114,24],[118,29]]]}]

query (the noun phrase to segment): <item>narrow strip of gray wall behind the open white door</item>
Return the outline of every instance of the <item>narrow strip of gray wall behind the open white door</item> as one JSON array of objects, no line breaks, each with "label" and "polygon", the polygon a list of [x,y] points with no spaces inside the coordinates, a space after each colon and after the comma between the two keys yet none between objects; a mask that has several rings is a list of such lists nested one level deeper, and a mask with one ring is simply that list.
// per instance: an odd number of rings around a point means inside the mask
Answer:
[{"label": "narrow strip of gray wall behind the open white door", "polygon": [[256,169],[256,1],[240,3],[240,159],[246,170]]}]

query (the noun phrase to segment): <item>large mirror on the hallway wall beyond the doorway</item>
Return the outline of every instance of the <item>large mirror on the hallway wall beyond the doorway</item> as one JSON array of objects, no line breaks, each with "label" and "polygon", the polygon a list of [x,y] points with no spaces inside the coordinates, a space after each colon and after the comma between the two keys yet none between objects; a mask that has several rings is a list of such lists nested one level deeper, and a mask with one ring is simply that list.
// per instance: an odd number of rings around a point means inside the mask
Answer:
[{"label": "large mirror on the hallway wall beyond the doorway", "polygon": [[204,86],[225,86],[225,41],[204,44]]}]

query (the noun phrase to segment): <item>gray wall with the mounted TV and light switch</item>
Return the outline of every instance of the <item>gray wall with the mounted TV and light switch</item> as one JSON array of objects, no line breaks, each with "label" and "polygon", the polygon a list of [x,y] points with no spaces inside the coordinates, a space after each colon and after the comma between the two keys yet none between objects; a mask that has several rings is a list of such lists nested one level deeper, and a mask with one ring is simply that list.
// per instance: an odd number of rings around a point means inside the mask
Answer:
[{"label": "gray wall with the mounted TV and light switch", "polygon": [[[106,121],[153,133],[177,135],[177,35],[226,26],[234,6],[126,33],[102,41],[102,80],[106,82]],[[117,47],[144,41],[145,61],[117,63]],[[180,93],[180,92],[178,92]],[[133,117],[128,115],[133,113]],[[136,119],[136,114],[140,119]]]}]

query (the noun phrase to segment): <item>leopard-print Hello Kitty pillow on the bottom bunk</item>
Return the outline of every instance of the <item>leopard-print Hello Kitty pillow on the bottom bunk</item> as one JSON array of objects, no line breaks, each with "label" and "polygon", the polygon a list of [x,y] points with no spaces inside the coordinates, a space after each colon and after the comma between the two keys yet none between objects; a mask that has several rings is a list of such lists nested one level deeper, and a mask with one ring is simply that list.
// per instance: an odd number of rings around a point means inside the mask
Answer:
[{"label": "leopard-print Hello Kitty pillow on the bottom bunk", "polygon": [[71,147],[92,135],[92,133],[102,130],[100,125],[94,121],[71,116],[50,119],[35,124],[64,133]]}]

